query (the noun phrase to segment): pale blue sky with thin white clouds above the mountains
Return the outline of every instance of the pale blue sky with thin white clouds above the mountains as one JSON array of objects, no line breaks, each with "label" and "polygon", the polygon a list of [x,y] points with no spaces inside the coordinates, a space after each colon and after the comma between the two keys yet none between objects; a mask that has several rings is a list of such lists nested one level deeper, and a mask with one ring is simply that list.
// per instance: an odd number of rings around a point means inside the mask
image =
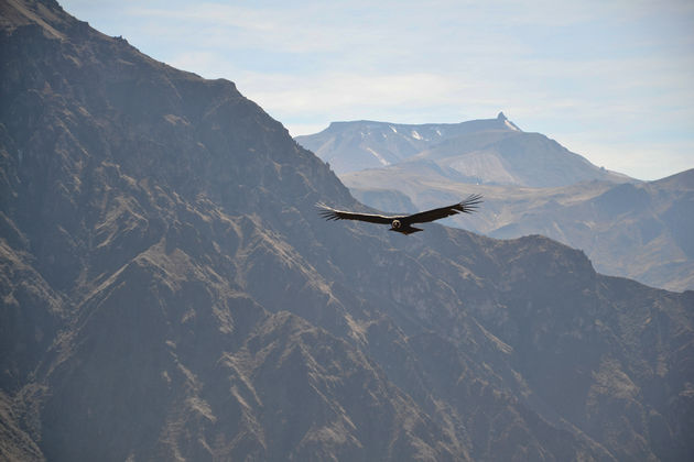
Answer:
[{"label": "pale blue sky with thin white clouds above the mountains", "polygon": [[63,0],[292,135],[502,111],[639,179],[694,168],[692,0]]}]

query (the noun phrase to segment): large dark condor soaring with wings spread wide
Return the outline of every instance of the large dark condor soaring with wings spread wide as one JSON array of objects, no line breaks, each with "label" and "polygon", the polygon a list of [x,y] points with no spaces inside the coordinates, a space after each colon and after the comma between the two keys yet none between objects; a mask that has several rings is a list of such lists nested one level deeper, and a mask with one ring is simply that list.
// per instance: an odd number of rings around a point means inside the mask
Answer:
[{"label": "large dark condor soaring with wings spread wide", "polygon": [[419,231],[424,231],[421,228],[414,228],[412,223],[427,223],[430,221],[451,217],[460,212],[471,213],[477,210],[481,202],[481,195],[474,194],[453,206],[441,207],[413,215],[393,216],[355,213],[350,211],[336,210],[322,202],[316,204],[316,207],[319,209],[318,213],[326,220],[358,220],[367,221],[369,223],[390,224],[389,231],[395,231],[408,235]]}]

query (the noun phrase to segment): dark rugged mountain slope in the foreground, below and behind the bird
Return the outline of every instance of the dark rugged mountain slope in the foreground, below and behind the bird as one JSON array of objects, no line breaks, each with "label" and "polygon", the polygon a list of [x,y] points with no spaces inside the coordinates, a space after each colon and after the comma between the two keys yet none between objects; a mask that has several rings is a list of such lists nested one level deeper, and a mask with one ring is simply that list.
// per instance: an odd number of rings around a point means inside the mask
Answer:
[{"label": "dark rugged mountain slope in the foreground, below and behind the bird", "polygon": [[694,293],[369,210],[228,80],[0,3],[7,460],[687,460]]}]

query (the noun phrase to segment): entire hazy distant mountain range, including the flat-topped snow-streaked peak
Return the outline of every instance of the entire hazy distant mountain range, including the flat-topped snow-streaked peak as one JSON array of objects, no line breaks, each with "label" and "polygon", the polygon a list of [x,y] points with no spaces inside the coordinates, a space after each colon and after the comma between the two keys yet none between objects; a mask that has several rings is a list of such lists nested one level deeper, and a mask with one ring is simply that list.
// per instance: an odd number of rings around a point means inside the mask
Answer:
[{"label": "entire hazy distant mountain range, including the flat-topped snow-streaked peak", "polygon": [[691,227],[673,219],[694,212],[686,175],[641,184],[503,113],[458,124],[334,122],[295,140],[376,209],[414,212],[481,193],[487,213],[446,223],[500,239],[543,234],[584,250],[601,273],[694,289]]}]

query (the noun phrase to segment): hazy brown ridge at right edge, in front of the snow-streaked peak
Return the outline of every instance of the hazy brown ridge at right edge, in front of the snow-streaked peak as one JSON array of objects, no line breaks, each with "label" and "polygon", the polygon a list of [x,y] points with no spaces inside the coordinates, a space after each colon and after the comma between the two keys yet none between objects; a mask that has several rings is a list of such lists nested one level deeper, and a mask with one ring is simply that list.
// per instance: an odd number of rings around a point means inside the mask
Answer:
[{"label": "hazy brown ridge at right edge, in front of the snow-streaked peak", "polygon": [[[586,185],[508,207],[488,233],[539,233],[585,250],[596,268],[670,290],[694,289],[694,169],[643,184]],[[584,193],[584,194],[585,194]],[[514,210],[518,210],[514,212]]]}]

